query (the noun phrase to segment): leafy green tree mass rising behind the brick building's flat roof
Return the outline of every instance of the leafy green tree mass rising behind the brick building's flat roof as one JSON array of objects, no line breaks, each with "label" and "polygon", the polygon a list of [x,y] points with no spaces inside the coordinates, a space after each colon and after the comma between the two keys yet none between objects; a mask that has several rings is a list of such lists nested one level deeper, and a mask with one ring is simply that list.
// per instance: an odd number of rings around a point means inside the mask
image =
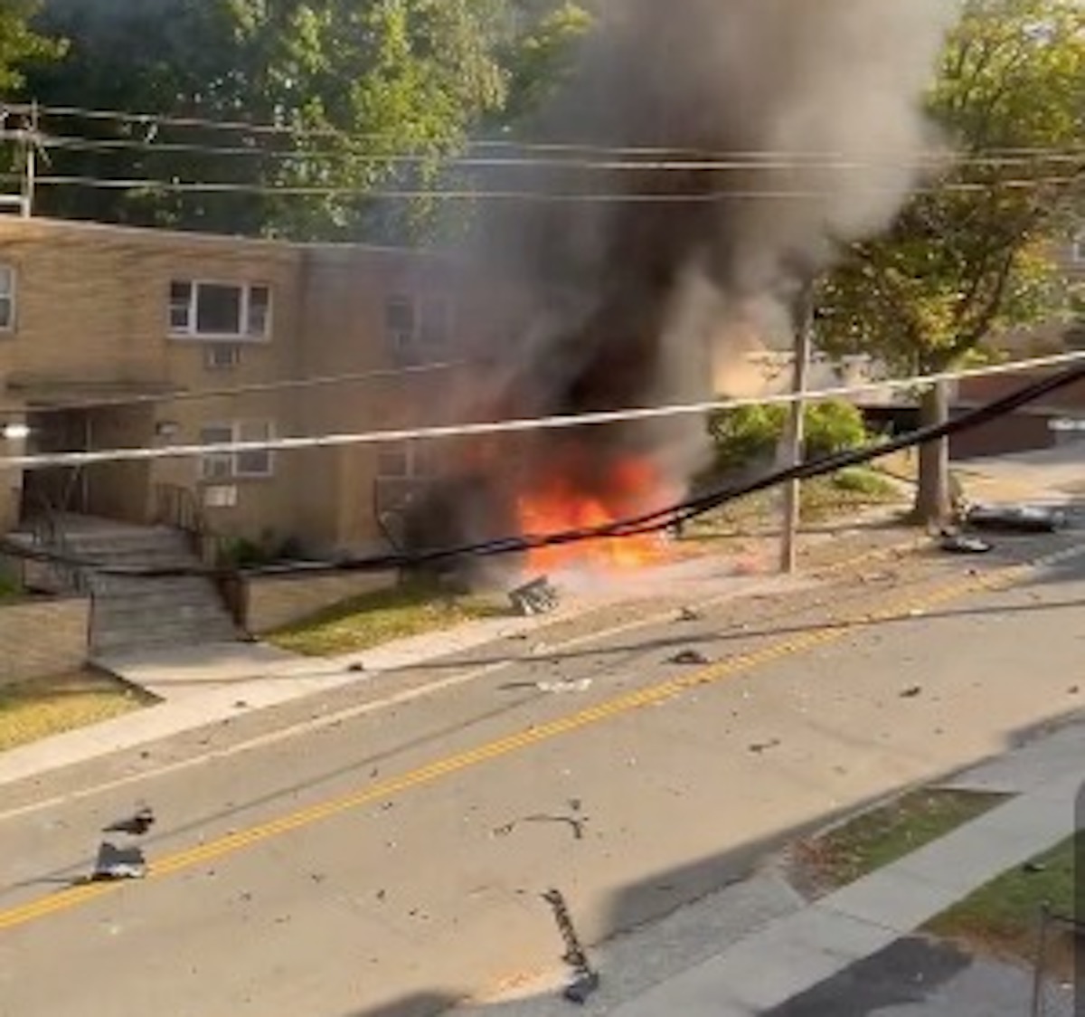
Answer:
[{"label": "leafy green tree mass rising behind the brick building's flat roof", "polygon": [[[368,192],[432,179],[443,157],[503,106],[506,3],[44,0],[38,24],[67,38],[69,52],[31,74],[26,94],[152,115],[47,120],[53,135],[82,139],[52,151],[53,171],[222,188],[50,189],[44,211],[298,239],[417,226],[400,207],[382,214],[387,206]],[[155,115],[280,131],[161,124]],[[337,193],[312,193],[329,189]]]}]

